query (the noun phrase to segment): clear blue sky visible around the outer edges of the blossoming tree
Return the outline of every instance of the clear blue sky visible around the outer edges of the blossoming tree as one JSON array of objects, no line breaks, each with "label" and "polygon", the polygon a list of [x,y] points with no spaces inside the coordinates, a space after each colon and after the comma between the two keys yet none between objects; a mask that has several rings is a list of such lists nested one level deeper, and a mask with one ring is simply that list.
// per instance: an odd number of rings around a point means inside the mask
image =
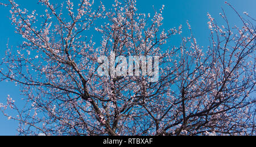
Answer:
[{"label": "clear blue sky visible around the outer edges of the blossoming tree", "polygon": [[[53,1],[56,0],[50,0],[50,2]],[[36,9],[39,11],[41,8],[41,6],[37,4],[37,1],[16,0],[16,2],[28,10]],[[102,0],[102,2],[106,5],[106,8],[109,8],[110,4],[112,4],[114,0]],[[246,11],[253,16],[253,18],[256,18],[255,0],[230,0],[228,2],[231,3],[241,14]],[[76,0],[74,3],[76,3]],[[158,10],[162,5],[166,6],[163,12],[164,28],[168,29],[179,27],[179,25],[182,24],[184,26],[183,29],[185,30],[187,28],[186,22],[189,20],[194,35],[197,38],[197,42],[199,42],[201,46],[207,45],[209,37],[207,12],[209,12],[213,18],[216,18],[218,21],[220,20],[219,13],[222,11],[221,8],[223,7],[231,23],[234,24],[238,21],[237,15],[230,7],[225,5],[224,0],[137,0],[137,8],[139,12],[144,12],[146,14],[150,13],[152,12],[153,5],[156,10]],[[8,8],[0,6],[0,13],[0,28],[2,28],[0,33],[1,59],[3,55],[5,55],[7,41],[9,40],[9,46],[13,46],[15,50],[15,47],[22,42],[22,38],[18,34],[14,33],[14,26],[11,25],[11,21],[8,18],[10,16]],[[5,81],[0,82],[0,103],[6,102],[8,94],[18,104],[22,105],[20,100],[23,96],[20,96],[19,87],[15,87],[14,83],[6,83]],[[17,122],[8,120],[5,116],[0,114],[0,135],[18,135],[18,132],[16,131],[17,127]]]}]

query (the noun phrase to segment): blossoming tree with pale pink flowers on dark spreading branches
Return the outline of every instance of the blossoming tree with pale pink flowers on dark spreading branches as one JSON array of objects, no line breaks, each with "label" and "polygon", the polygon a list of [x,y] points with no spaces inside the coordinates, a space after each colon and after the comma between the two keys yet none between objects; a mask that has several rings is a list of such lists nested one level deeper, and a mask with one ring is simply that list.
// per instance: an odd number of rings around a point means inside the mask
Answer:
[{"label": "blossoming tree with pale pink flowers on dark spreading branches", "polygon": [[[26,97],[23,109],[10,97],[0,105],[19,121],[20,135],[255,135],[256,33],[248,14],[234,10],[242,28],[231,27],[224,11],[221,27],[208,14],[210,45],[202,48],[189,23],[191,36],[167,43],[182,30],[161,28],[164,6],[150,16],[138,14],[134,0],[110,10],[90,0],[39,2],[44,14],[1,3],[26,40],[7,48],[0,71]],[[97,58],[110,52],[159,57],[159,80],[99,76]]]}]

